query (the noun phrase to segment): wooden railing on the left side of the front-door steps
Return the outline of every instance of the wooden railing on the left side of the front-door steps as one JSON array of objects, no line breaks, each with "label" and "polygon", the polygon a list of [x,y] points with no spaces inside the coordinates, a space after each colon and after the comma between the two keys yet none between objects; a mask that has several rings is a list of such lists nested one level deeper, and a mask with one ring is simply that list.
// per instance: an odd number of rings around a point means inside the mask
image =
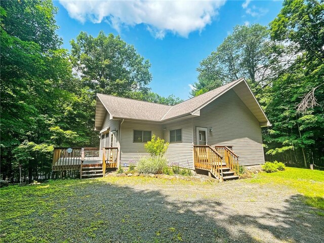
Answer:
[{"label": "wooden railing on the left side of the front-door steps", "polygon": [[220,179],[223,172],[222,155],[209,145],[193,146],[194,167],[210,171],[216,178]]}]

